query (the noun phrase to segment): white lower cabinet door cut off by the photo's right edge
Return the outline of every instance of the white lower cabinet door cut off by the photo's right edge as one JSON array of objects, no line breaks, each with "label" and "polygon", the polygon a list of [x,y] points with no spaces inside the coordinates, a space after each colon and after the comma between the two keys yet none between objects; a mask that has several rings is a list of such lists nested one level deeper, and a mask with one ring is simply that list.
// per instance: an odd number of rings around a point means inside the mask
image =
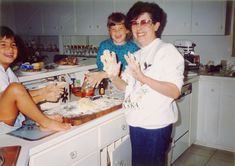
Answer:
[{"label": "white lower cabinet door cut off by the photo's right edge", "polygon": [[221,83],[220,116],[217,144],[235,150],[235,80]]}]

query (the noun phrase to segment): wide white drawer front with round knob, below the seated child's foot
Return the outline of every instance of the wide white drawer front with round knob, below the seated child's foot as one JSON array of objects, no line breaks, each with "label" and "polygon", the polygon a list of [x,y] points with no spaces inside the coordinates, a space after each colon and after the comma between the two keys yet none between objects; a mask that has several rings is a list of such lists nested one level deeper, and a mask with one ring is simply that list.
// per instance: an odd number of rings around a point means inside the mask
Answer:
[{"label": "wide white drawer front with round knob, below the seated child's foot", "polygon": [[29,165],[68,166],[98,150],[98,130],[93,129],[65,140],[30,157]]}]

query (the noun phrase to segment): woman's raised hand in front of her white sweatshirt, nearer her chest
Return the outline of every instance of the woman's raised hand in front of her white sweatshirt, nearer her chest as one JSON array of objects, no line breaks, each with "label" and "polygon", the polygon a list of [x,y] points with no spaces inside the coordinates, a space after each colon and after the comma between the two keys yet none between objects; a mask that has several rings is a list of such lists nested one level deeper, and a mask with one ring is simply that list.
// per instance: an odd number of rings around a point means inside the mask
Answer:
[{"label": "woman's raised hand in front of her white sweatshirt, nearer her chest", "polygon": [[128,64],[128,73],[132,75],[132,77],[134,77],[136,80],[140,81],[141,83],[144,83],[144,73],[141,71],[140,65],[136,61],[135,57],[128,53],[128,55],[125,55],[125,59]]}]

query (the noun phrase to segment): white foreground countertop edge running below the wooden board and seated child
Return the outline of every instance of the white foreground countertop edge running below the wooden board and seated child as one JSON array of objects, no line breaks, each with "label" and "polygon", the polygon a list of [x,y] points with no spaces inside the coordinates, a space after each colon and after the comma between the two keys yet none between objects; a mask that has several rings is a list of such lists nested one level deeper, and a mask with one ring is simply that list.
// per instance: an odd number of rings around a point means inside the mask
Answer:
[{"label": "white foreground countertop edge running below the wooden board and seated child", "polygon": [[[21,151],[17,160],[17,166],[26,166],[28,165],[30,156],[36,155],[37,153],[40,153],[44,150],[46,151],[48,148],[56,146],[61,142],[64,142],[74,136],[82,134],[83,132],[86,132],[94,127],[101,125],[104,122],[109,121],[110,119],[121,116],[122,114],[123,110],[119,109],[117,111],[113,111],[109,114],[106,114],[105,116],[86,122],[85,124],[73,126],[68,131],[57,132],[38,141],[28,141],[7,134],[0,135],[0,147],[20,145]],[[84,144],[86,143],[84,142]]]}]

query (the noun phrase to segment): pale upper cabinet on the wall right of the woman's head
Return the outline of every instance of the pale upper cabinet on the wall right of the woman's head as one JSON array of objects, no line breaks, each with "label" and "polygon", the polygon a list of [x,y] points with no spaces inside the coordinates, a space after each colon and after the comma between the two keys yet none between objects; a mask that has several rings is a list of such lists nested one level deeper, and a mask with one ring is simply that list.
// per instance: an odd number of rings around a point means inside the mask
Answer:
[{"label": "pale upper cabinet on the wall right of the woman's head", "polygon": [[163,35],[224,35],[226,1],[166,0]]}]

